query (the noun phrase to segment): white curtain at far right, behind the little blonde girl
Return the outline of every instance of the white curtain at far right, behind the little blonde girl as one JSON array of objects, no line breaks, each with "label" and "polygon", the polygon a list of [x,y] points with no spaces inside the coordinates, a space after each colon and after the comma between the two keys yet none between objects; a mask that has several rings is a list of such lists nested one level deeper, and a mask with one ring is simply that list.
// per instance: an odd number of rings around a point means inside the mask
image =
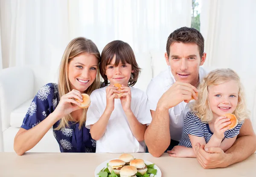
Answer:
[{"label": "white curtain at far right, behind the little blonde girl", "polygon": [[[209,68],[234,69],[244,84],[256,130],[256,1],[202,0],[201,33]],[[254,103],[253,103],[254,102]],[[255,110],[256,111],[256,110]]]}]

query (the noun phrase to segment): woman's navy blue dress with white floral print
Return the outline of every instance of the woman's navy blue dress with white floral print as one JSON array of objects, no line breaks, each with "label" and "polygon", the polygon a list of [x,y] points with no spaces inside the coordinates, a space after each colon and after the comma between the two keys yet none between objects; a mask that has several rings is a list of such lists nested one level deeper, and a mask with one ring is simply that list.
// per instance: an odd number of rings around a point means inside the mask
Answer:
[{"label": "woman's navy blue dress with white floral print", "polygon": [[[21,128],[29,130],[42,122],[51,114],[59,103],[58,85],[48,83],[40,88],[24,117]],[[60,120],[53,125],[56,128]],[[68,128],[53,130],[61,152],[95,152],[96,141],[92,139],[90,130],[79,123],[69,122]]]}]

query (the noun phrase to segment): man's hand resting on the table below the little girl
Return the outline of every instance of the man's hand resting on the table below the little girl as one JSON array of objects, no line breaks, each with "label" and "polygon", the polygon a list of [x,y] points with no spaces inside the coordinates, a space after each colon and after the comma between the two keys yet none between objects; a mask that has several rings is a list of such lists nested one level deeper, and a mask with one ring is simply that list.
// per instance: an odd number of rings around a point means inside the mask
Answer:
[{"label": "man's hand resting on the table below the little girl", "polygon": [[204,150],[204,145],[196,144],[195,155],[204,169],[224,168],[229,165],[230,154],[224,153],[221,148],[209,147]]}]

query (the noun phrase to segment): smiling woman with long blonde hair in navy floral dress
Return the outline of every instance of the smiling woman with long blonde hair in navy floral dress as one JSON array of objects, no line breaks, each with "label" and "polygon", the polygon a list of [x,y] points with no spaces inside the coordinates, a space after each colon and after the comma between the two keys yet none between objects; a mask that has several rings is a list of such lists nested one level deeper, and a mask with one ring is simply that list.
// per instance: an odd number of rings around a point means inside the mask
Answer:
[{"label": "smiling woman with long blonde hair in navy floral dress", "polygon": [[64,51],[58,85],[48,83],[33,99],[14,140],[18,155],[33,148],[53,127],[61,152],[95,152],[96,142],[85,128],[87,109],[79,109],[82,93],[100,86],[100,53],[84,37],[73,39]]}]

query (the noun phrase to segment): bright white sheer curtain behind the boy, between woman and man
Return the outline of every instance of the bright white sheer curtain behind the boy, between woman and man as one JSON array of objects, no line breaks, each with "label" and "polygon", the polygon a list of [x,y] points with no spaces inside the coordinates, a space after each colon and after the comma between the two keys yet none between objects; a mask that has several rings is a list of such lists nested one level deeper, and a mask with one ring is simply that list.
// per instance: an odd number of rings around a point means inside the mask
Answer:
[{"label": "bright white sheer curtain behind the boy, between woman and man", "polygon": [[165,51],[169,34],[191,24],[191,0],[76,0],[71,6],[79,19],[72,36],[90,38],[100,51],[112,40],[135,52]]}]

